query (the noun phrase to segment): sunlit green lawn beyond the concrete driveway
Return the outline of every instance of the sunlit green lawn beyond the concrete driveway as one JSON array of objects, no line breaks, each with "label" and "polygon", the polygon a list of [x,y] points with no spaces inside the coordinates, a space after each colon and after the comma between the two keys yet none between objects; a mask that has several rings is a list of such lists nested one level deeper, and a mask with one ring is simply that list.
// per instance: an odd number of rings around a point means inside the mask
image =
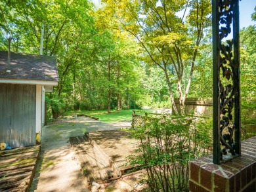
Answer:
[{"label": "sunlit green lawn beyond the concrete driveway", "polygon": [[[84,115],[97,117],[102,122],[114,123],[119,121],[131,121],[133,110],[137,110],[137,109],[121,110],[119,112],[117,112],[116,110],[112,110],[111,113],[108,113],[106,110],[93,110],[93,111],[79,110],[79,111],[68,111],[65,115],[84,114]],[[150,109],[146,109],[143,111],[149,112]],[[143,113],[136,112],[136,114],[143,114]]]}]

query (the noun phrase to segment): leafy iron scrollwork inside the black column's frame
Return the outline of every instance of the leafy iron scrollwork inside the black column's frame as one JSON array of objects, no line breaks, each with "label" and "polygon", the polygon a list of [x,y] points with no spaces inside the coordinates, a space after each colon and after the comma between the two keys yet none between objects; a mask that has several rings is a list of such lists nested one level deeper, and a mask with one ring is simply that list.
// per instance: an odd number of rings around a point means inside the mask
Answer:
[{"label": "leafy iron scrollwork inside the black column's frame", "polygon": [[[217,62],[219,82],[219,153],[220,159],[223,155],[231,153],[236,155],[234,144],[234,131],[236,125],[234,123],[234,105],[236,94],[238,92],[235,81],[238,81],[240,75],[236,71],[236,63],[234,60],[234,41],[227,40],[223,42],[225,37],[232,32],[232,20],[234,18],[234,2],[236,0],[217,0],[217,26],[219,29],[219,37],[217,37]],[[239,41],[238,41],[239,42]],[[239,90],[240,91],[240,90]]]}]

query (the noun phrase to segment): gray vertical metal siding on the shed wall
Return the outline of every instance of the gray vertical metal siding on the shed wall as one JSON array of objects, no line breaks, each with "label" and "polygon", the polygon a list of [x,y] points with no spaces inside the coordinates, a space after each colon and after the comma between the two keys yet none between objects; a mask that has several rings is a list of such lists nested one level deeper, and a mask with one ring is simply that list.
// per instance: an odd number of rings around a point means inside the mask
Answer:
[{"label": "gray vertical metal siding on the shed wall", "polygon": [[0,142],[35,145],[35,85],[0,84]]}]

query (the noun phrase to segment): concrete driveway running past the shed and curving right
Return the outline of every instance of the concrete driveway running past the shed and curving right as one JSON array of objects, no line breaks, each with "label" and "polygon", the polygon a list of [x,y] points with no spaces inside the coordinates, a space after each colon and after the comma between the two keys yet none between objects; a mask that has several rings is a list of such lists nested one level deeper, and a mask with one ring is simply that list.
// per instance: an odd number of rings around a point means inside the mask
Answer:
[{"label": "concrete driveway running past the shed and curving right", "polygon": [[60,124],[44,126],[41,157],[30,191],[90,191],[85,186],[79,161],[70,146],[70,136],[129,126],[130,122],[113,125],[87,117],[66,119]]}]

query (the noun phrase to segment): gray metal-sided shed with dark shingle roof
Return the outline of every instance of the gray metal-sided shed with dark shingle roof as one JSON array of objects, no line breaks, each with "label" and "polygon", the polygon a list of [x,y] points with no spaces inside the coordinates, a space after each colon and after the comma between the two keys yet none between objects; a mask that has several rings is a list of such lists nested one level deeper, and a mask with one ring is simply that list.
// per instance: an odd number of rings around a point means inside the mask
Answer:
[{"label": "gray metal-sided shed with dark shingle roof", "polygon": [[45,92],[58,85],[56,58],[0,51],[0,143],[36,144],[45,120]]}]

